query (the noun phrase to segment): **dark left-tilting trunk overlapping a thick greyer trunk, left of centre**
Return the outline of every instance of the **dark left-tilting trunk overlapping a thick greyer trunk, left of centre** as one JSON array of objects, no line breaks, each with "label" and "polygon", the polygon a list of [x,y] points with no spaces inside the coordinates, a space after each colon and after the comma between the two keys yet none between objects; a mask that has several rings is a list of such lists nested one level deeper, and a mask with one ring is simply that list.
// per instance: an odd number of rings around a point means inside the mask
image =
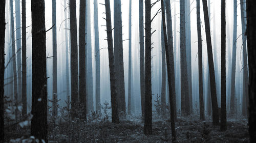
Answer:
[{"label": "dark left-tilting trunk overlapping a thick greyer trunk, left of centre", "polygon": [[112,123],[119,123],[118,102],[117,102],[117,93],[116,93],[115,62],[114,62],[113,38],[112,38],[111,11],[110,11],[110,1],[109,0],[105,0],[105,10],[106,10],[106,34],[108,36],[109,65],[110,65]]}]

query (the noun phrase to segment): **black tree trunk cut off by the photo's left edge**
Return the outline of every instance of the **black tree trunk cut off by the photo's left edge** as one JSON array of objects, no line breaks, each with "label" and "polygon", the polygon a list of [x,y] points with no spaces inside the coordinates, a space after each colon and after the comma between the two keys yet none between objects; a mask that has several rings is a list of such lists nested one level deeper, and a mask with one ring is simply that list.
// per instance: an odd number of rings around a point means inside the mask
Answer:
[{"label": "black tree trunk cut off by the photo's left edge", "polygon": [[4,143],[5,1],[0,1],[0,143]]}]

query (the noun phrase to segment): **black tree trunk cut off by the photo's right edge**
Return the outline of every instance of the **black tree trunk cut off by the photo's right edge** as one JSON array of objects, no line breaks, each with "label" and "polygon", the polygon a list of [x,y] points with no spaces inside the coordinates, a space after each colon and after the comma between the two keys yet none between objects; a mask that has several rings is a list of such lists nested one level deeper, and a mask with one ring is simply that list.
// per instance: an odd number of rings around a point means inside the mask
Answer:
[{"label": "black tree trunk cut off by the photo's right edge", "polygon": [[249,134],[250,142],[256,142],[256,1],[246,0],[247,44],[249,62]]}]

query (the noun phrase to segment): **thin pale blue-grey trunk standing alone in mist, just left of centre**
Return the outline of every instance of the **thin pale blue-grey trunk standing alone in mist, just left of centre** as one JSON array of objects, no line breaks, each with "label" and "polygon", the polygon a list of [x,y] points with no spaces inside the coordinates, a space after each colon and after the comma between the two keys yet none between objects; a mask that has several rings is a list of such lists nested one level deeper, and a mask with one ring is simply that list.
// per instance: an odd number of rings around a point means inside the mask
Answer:
[{"label": "thin pale blue-grey trunk standing alone in mist, just left of centre", "polygon": [[129,1],[129,68],[128,68],[128,114],[131,115],[132,77],[132,0]]}]

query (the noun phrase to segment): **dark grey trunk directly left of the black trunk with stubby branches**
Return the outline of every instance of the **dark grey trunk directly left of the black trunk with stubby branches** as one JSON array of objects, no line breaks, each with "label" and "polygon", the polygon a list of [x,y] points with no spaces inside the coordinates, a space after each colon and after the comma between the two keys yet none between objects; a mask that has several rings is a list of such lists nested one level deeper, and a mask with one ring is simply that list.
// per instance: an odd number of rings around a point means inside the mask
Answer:
[{"label": "dark grey trunk directly left of the black trunk with stubby branches", "polygon": [[145,56],[144,56],[144,26],[143,26],[143,0],[139,0],[139,32],[140,32],[140,99],[141,99],[141,115],[144,117],[145,103]]}]

